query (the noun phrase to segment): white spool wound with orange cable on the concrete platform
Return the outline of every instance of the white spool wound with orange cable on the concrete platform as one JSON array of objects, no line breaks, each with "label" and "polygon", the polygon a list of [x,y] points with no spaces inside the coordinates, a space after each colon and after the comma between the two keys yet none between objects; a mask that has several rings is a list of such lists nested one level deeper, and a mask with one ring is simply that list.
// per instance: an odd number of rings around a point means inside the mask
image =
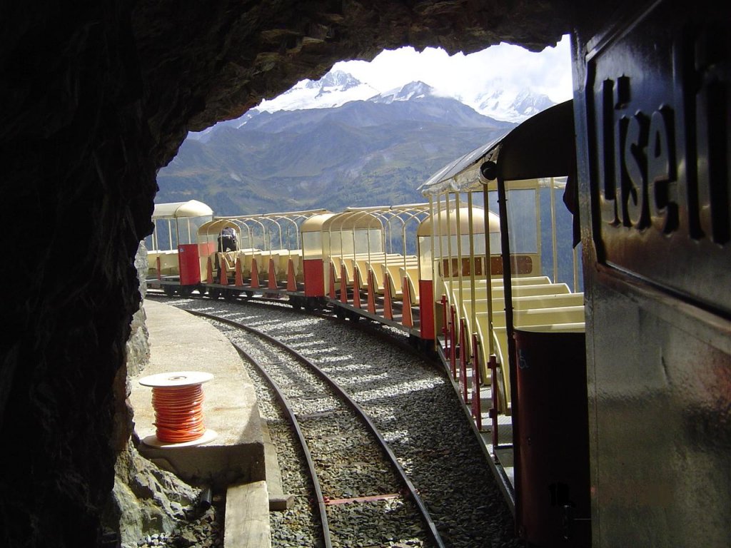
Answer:
[{"label": "white spool wound with orange cable on the concrete platform", "polygon": [[153,446],[205,444],[216,437],[203,424],[202,384],[211,373],[176,371],[140,378],[140,384],[152,387],[156,432],[143,441]]}]

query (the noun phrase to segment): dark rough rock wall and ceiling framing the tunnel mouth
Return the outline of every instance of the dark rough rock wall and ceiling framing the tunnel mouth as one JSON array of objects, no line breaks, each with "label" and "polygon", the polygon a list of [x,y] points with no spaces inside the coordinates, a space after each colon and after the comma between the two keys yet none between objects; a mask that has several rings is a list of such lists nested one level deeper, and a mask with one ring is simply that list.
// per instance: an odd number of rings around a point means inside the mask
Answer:
[{"label": "dark rough rock wall and ceiling framing the tunnel mouth", "polygon": [[156,170],[189,129],[384,47],[469,52],[506,40],[539,50],[570,30],[568,5],[1,4],[0,272],[10,291],[0,354],[0,546],[100,542],[99,516],[129,437],[118,398],[140,303],[135,253],[152,229]]}]

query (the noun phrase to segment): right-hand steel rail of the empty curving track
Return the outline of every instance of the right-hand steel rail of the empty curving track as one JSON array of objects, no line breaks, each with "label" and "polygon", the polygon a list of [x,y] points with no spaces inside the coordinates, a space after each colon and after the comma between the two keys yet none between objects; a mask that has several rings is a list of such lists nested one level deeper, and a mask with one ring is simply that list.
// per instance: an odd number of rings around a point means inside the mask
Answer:
[{"label": "right-hand steel rail of the empty curving track", "polygon": [[[268,342],[272,343],[275,346],[279,346],[279,348],[283,349],[284,351],[288,352],[289,354],[292,354],[296,359],[300,360],[300,362],[303,362],[303,364],[307,365],[308,368],[311,368],[311,370],[314,371],[314,373],[319,376],[319,378],[322,379],[322,381],[325,381],[330,388],[333,389],[340,397],[343,398],[343,400],[348,404],[350,408],[355,411],[357,415],[360,416],[360,419],[363,420],[363,423],[368,427],[368,430],[371,431],[371,434],[374,435],[374,438],[376,438],[376,441],[378,441],[379,445],[381,446],[382,451],[390,460],[391,465],[393,465],[394,470],[396,471],[397,475],[401,479],[401,482],[406,487],[406,490],[409,493],[409,496],[412,498],[412,501],[417,506],[417,509],[419,510],[419,513],[421,514],[422,519],[424,520],[427,530],[429,533],[429,536],[431,537],[431,540],[436,544],[436,547],[438,548],[445,548],[444,541],[442,541],[442,537],[439,535],[439,531],[436,530],[436,525],[431,519],[431,515],[429,515],[429,511],[426,509],[426,506],[424,502],[421,500],[421,497],[419,493],[416,490],[416,487],[414,487],[414,484],[409,479],[409,476],[406,476],[406,472],[404,471],[404,468],[401,467],[401,464],[398,463],[398,460],[396,459],[395,454],[393,453],[393,450],[390,448],[390,446],[387,444],[379,430],[376,428],[376,425],[374,425],[373,421],[371,421],[371,418],[366,414],[365,411],[355,402],[355,400],[352,399],[345,391],[340,387],[339,384],[336,383],[336,381],[333,381],[332,378],[327,376],[327,373],[317,367],[317,365],[314,365],[309,359],[304,357],[302,354],[300,354],[295,349],[292,349],[290,346],[287,346],[286,343],[281,342],[280,340],[277,340],[276,338],[273,338],[271,335],[267,335],[264,332],[261,332],[260,330],[257,330],[254,327],[250,327],[246,324],[241,324],[238,321],[230,320],[227,318],[221,318],[219,316],[214,316],[212,314],[208,314],[205,312],[199,312],[199,311],[188,311],[189,313],[192,313],[194,316],[201,316],[203,318],[211,319],[213,321],[221,321],[224,324],[231,325],[232,327],[238,327],[244,331],[248,331],[253,333],[254,335],[257,335],[258,337],[261,337]],[[319,495],[322,498],[322,493]],[[319,502],[319,501],[318,501]]]}]

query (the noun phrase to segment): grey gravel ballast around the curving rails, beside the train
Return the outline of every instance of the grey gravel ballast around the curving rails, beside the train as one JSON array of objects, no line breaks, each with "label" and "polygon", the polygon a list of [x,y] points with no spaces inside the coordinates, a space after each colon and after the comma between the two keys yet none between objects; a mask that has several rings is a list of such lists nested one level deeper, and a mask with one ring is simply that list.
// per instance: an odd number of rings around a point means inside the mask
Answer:
[{"label": "grey gravel ballast around the curving rails, beside the train", "polygon": [[[294,311],[284,302],[162,300],[188,311],[244,322],[273,335],[335,378],[382,432],[401,468],[417,487],[444,547],[524,546],[515,536],[510,510],[464,419],[449,379],[442,368],[418,356],[409,346],[408,337],[383,332],[381,327],[369,326],[368,321],[353,323],[328,317],[327,313],[319,317]],[[264,353],[274,352],[267,350],[269,343],[228,324],[213,323],[255,359],[284,364],[283,357]],[[248,359],[243,363],[254,381],[260,414],[268,422],[279,455],[284,492],[295,495],[291,509],[270,513],[273,547],[325,546],[296,436],[260,373]],[[271,375],[282,387],[295,392],[292,407],[303,430],[313,429],[325,444],[330,465],[320,471],[319,479],[323,494],[330,502],[339,503],[325,505],[330,527],[336,531],[333,546],[437,546],[428,538],[423,519],[396,481],[395,473],[382,460],[382,450],[361,452],[361,444],[370,437],[366,428],[353,427],[355,419],[346,418],[349,411],[333,406],[333,396],[322,395],[321,389],[314,394],[308,392],[310,384],[322,382],[314,373],[303,381],[301,376],[290,377],[291,368],[278,365]],[[303,408],[298,408],[300,405]],[[340,427],[343,421],[351,425],[346,430]],[[322,452],[316,445],[314,460],[319,462]],[[382,465],[371,464],[376,462]],[[351,502],[369,495],[379,500]],[[405,531],[401,522],[409,523]],[[378,530],[381,533],[373,533]]]}]

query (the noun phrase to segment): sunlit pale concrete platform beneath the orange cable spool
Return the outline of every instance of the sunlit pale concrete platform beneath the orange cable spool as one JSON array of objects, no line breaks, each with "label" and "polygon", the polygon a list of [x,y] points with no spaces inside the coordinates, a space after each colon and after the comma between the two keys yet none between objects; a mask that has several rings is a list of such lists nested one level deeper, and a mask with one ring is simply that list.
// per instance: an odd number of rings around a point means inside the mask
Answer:
[{"label": "sunlit pale concrete platform beneath the orange cable spool", "polygon": [[[265,481],[266,426],[260,419],[251,378],[229,340],[207,321],[179,308],[153,300],[146,300],[144,308],[150,364],[140,376],[130,379],[129,397],[135,433],[143,440],[140,454],[198,487],[222,490],[233,484]],[[202,384],[202,410],[206,429],[215,431],[216,437],[205,444],[154,444],[153,389],[140,385],[139,379],[176,371],[213,375]]]}]

